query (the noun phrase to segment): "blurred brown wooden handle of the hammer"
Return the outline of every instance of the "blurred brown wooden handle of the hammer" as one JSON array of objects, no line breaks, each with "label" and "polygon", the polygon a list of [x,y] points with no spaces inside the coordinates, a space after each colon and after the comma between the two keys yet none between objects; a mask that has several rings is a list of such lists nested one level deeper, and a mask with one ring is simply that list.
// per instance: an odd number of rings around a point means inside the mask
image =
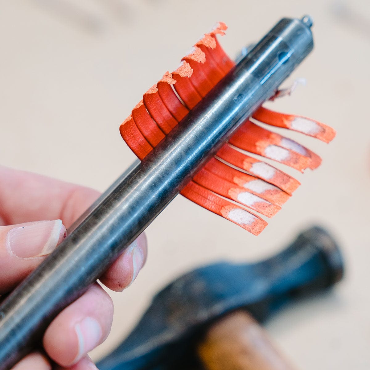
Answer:
[{"label": "blurred brown wooden handle of the hammer", "polygon": [[207,370],[293,370],[265,330],[241,310],[213,324],[197,350]]}]

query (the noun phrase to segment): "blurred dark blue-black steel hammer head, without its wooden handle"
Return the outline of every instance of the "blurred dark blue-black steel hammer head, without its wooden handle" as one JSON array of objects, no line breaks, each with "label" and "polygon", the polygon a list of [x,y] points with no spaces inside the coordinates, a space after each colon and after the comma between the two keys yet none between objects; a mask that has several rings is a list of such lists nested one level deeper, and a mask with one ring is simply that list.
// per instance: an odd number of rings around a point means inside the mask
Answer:
[{"label": "blurred dark blue-black steel hammer head, without its wooden handle", "polygon": [[127,339],[97,366],[100,370],[194,368],[196,340],[219,317],[243,308],[263,322],[287,302],[326,289],[342,276],[338,246],[319,227],[300,233],[269,259],[203,266],[161,290]]}]

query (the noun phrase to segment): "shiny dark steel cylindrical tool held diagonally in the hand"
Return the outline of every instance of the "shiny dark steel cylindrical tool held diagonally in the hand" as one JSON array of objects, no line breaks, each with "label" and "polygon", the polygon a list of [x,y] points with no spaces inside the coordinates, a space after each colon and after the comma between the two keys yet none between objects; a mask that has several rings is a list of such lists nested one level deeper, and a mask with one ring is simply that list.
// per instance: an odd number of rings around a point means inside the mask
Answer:
[{"label": "shiny dark steel cylindrical tool held diagonally in the hand", "polygon": [[0,370],[81,296],[313,48],[310,17],[282,19],[0,306]]}]

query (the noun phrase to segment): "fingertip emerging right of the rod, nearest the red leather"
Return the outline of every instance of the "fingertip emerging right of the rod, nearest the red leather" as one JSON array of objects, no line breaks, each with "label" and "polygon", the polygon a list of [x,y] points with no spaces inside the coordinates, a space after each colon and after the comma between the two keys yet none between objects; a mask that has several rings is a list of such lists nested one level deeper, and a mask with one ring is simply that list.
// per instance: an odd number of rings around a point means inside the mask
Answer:
[{"label": "fingertip emerging right of the rod, nearest the red leather", "polygon": [[147,238],[142,233],[99,280],[109,289],[122,292],[134,282],[146,260]]}]

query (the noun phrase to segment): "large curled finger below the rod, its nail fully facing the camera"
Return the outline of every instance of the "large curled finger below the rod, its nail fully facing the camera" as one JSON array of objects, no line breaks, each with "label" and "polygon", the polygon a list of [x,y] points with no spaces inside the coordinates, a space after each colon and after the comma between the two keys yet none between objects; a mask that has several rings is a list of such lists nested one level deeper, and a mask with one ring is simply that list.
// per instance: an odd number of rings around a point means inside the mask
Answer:
[{"label": "large curled finger below the rod, its nail fully facing the camera", "polygon": [[72,366],[104,342],[112,320],[112,299],[96,283],[53,320],[44,334],[44,348],[56,363]]}]

